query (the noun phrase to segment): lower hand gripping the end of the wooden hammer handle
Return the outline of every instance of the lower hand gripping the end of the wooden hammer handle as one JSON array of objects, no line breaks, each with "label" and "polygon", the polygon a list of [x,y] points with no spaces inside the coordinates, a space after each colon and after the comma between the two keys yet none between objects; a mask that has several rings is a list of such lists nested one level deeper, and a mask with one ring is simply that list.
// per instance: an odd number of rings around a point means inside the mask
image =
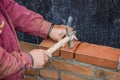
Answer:
[{"label": "lower hand gripping the end of the wooden hammer handle", "polygon": [[42,68],[44,64],[48,61],[48,56],[46,55],[46,50],[34,49],[29,52],[31,54],[34,64],[32,68]]}]

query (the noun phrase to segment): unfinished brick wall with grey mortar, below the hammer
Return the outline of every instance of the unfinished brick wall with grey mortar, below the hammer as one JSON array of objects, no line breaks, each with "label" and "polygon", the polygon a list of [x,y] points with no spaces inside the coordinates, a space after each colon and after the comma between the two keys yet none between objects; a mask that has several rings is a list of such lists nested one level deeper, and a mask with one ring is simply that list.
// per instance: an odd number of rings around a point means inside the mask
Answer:
[{"label": "unfinished brick wall with grey mortar, below the hammer", "polygon": [[[40,45],[21,42],[22,51],[48,49],[56,42],[45,39]],[[24,80],[120,80],[120,49],[74,41],[55,53],[42,69],[24,72]]]}]

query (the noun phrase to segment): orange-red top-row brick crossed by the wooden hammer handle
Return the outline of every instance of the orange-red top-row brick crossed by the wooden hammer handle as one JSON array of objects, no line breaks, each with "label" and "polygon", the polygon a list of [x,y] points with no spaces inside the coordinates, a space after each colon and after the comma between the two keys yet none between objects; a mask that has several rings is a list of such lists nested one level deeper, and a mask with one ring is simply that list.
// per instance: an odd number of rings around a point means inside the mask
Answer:
[{"label": "orange-red top-row brick crossed by the wooden hammer handle", "polygon": [[[40,47],[40,49],[45,49],[45,50],[47,50],[47,49],[49,49],[51,46],[55,45],[56,43],[57,43],[57,42],[55,42],[55,41],[53,41],[53,40],[51,40],[51,39],[44,39],[44,40],[40,43],[39,47]],[[57,50],[57,51],[55,51],[55,52],[53,53],[53,56],[59,56],[59,55],[60,55],[59,50]]]}]

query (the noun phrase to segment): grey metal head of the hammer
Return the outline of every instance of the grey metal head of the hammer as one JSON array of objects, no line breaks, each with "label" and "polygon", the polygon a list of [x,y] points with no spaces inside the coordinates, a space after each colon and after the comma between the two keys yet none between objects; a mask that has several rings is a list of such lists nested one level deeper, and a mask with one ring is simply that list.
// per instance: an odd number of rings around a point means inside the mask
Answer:
[{"label": "grey metal head of the hammer", "polygon": [[69,27],[66,27],[66,36],[69,37],[69,42],[68,42],[68,46],[70,48],[72,48],[74,46],[73,40],[77,39],[76,37],[76,31],[71,31],[71,29]]}]

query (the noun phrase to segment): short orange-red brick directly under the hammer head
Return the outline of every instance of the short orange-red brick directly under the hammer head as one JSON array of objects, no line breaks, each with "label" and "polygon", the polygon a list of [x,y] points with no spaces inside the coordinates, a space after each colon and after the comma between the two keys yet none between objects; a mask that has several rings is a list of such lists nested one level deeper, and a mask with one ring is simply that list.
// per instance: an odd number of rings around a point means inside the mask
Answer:
[{"label": "short orange-red brick directly under the hammer head", "polygon": [[68,47],[68,44],[66,44],[65,47],[60,49],[61,57],[67,60],[74,59],[75,57],[75,50],[79,45],[79,41],[74,41],[74,46],[72,48]]}]

